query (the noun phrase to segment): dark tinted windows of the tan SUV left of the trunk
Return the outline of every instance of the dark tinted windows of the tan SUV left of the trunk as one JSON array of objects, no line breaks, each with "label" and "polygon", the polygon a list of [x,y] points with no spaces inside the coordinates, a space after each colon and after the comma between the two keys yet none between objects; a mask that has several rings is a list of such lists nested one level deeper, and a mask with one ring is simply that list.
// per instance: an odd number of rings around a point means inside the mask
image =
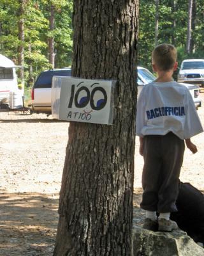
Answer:
[{"label": "dark tinted windows of the tan SUV left of the trunk", "polygon": [[71,76],[71,69],[41,72],[36,83],[34,83],[34,88],[51,88],[53,76]]}]

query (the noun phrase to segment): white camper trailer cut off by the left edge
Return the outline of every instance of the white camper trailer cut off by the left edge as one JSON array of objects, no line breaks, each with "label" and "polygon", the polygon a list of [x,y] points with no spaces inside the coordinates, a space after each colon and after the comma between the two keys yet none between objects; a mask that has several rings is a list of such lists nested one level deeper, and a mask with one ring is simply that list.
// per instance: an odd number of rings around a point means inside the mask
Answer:
[{"label": "white camper trailer cut off by the left edge", "polygon": [[22,108],[24,89],[18,88],[13,61],[0,54],[0,109]]}]

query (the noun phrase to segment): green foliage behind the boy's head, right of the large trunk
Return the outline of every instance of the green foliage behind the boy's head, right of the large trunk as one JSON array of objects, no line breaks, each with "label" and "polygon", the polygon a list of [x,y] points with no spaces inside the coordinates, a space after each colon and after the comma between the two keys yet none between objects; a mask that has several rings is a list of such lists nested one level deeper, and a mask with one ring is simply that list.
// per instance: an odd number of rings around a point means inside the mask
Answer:
[{"label": "green foliage behind the boy's head, right of the large trunk", "polygon": [[[204,5],[203,0],[196,0],[196,13],[194,15],[196,26],[192,33],[194,50],[191,54],[187,54],[188,1],[177,0],[175,3],[176,8],[174,10],[173,1],[159,1],[158,44],[174,44],[178,50],[180,65],[185,58],[204,58]],[[150,70],[151,52],[155,47],[155,17],[155,2],[140,0],[138,65]]]}]

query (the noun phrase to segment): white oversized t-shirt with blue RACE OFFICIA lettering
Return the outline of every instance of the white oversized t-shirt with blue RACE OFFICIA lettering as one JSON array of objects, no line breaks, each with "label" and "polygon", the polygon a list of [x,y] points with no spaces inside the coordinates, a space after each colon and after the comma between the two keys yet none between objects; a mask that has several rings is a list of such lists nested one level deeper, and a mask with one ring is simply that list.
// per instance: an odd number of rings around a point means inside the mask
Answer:
[{"label": "white oversized t-shirt with blue RACE OFFICIA lettering", "polygon": [[175,81],[146,84],[137,103],[136,135],[168,132],[182,140],[203,132],[191,93]]}]

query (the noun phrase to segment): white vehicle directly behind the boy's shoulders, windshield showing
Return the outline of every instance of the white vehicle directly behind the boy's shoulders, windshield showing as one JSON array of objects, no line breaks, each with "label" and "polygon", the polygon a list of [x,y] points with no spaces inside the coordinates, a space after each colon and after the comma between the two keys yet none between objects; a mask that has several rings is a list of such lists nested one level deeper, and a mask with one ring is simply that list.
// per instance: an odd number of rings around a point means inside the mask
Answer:
[{"label": "white vehicle directly behind the boy's shoulders, windshield showing", "polygon": [[[152,74],[147,68],[138,67],[138,77],[137,77],[137,83],[138,83],[138,95],[140,95],[140,92],[142,91],[142,88],[145,84],[151,83],[156,79],[156,76]],[[194,104],[196,108],[198,109],[201,107],[201,99],[200,99],[200,87],[196,84],[186,84],[186,83],[180,83],[186,86],[191,93],[191,96],[193,97]]]}]

